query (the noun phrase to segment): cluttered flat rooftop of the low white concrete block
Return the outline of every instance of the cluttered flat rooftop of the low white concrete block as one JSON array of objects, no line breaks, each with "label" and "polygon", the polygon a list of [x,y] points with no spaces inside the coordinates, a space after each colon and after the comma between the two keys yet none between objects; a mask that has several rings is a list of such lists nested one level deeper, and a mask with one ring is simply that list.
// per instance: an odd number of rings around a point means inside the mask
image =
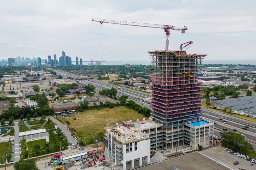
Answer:
[{"label": "cluttered flat rooftop of the low white concrete block", "polygon": [[136,140],[148,139],[147,135],[141,133],[138,130],[128,129],[122,125],[106,127],[106,130],[114,133],[116,140],[127,143]]}]

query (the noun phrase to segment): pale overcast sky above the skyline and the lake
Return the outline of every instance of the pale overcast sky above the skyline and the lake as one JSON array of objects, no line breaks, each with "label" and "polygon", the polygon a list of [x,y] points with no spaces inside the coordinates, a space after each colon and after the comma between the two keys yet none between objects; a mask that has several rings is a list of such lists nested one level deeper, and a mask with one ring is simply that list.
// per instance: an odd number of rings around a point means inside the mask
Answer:
[{"label": "pale overcast sky above the skyline and the lake", "polygon": [[[75,60],[149,60],[165,49],[163,29],[92,22],[93,18],[187,26],[171,31],[171,49],[193,41],[187,53],[207,59],[256,59],[255,1],[44,0],[2,1],[0,58],[46,59],[61,51]],[[254,63],[256,64],[256,63]]]}]

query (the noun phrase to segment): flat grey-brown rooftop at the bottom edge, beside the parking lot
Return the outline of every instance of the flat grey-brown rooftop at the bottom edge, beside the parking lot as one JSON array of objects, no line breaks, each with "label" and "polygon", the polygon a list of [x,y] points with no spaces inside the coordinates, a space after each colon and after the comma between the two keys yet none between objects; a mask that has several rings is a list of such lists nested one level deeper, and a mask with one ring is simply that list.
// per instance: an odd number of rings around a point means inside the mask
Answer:
[{"label": "flat grey-brown rooftop at the bottom edge, beside the parking lot", "polygon": [[[212,158],[214,159],[214,158]],[[159,162],[156,164],[151,164],[149,166],[144,166],[139,168],[140,170],[152,170],[152,169],[172,169],[174,167],[178,168],[179,170],[230,170],[230,168],[207,158],[206,156],[202,155],[199,152],[192,152],[183,156],[179,156],[176,158],[168,159],[163,162]]]}]

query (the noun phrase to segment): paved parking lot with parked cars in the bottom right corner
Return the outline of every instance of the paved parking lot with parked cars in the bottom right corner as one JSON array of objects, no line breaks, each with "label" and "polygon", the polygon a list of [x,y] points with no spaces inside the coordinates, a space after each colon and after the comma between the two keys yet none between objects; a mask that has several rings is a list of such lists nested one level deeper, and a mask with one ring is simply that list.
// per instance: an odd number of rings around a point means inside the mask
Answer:
[{"label": "paved parking lot with parked cars in the bottom right corner", "polygon": [[[217,147],[209,148],[206,150],[201,151],[206,156],[213,158],[214,160],[232,168],[232,169],[243,169],[243,170],[254,170],[256,169],[256,164],[247,161],[246,159],[240,158],[234,154],[230,154],[224,151],[224,147],[218,146],[218,153]],[[234,165],[233,163],[238,161],[238,165]]]}]

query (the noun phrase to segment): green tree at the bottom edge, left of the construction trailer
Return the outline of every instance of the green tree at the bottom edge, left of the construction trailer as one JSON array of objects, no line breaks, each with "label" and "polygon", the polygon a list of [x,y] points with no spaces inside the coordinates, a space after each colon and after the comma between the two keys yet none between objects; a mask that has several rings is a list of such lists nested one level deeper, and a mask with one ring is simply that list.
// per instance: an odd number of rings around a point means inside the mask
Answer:
[{"label": "green tree at the bottom edge, left of the construction trailer", "polygon": [[16,170],[24,170],[28,169],[28,167],[31,170],[39,170],[36,166],[36,159],[19,160],[14,163],[14,169]]}]

